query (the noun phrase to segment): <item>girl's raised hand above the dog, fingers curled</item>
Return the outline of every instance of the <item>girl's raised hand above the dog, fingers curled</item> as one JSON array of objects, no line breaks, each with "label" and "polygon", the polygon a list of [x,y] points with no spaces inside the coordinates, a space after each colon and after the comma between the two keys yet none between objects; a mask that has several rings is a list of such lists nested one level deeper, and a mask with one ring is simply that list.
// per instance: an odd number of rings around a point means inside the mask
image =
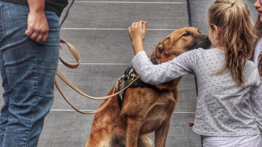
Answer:
[{"label": "girl's raised hand above the dog, fingers curled", "polygon": [[146,24],[146,21],[139,21],[132,23],[132,25],[128,28],[128,32],[132,43],[142,42],[145,39]]}]

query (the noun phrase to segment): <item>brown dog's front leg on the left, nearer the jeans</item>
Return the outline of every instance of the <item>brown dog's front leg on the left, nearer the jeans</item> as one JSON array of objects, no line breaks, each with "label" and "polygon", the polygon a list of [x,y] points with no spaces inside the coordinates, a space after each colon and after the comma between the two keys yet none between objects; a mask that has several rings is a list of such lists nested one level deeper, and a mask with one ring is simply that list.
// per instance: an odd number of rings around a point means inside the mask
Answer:
[{"label": "brown dog's front leg on the left, nearer the jeans", "polygon": [[137,147],[138,135],[141,125],[141,121],[133,118],[127,118],[126,147]]}]

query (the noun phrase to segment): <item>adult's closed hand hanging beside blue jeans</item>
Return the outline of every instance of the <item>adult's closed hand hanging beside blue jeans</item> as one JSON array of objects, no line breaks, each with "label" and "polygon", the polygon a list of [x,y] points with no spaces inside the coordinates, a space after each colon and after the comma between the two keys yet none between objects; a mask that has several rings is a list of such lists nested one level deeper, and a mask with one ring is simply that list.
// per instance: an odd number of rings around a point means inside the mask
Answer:
[{"label": "adult's closed hand hanging beside blue jeans", "polygon": [[42,43],[48,39],[49,26],[44,11],[29,12],[25,34],[32,40]]}]

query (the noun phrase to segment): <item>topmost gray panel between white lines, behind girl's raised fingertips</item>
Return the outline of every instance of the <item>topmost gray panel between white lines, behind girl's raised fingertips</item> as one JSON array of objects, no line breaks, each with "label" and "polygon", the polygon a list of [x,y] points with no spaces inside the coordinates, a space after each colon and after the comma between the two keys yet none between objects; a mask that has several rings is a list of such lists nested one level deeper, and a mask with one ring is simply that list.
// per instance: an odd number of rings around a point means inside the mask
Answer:
[{"label": "topmost gray panel between white lines, behind girl's raised fingertips", "polygon": [[177,29],[188,25],[186,4],[75,2],[62,28],[127,29],[132,22],[148,21],[148,29]]}]

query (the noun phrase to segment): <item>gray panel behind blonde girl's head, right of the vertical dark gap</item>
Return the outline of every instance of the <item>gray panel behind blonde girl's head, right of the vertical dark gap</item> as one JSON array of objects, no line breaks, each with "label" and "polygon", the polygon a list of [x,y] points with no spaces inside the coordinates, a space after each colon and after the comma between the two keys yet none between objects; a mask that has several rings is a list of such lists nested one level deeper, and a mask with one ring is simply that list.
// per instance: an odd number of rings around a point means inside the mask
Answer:
[{"label": "gray panel behind blonde girl's head, right of the vertical dark gap", "polygon": [[[208,8],[213,4],[215,0],[189,0],[190,12],[191,12],[191,23],[193,27],[201,30],[202,33],[208,34],[208,22],[207,13]],[[258,12],[253,7],[254,0],[245,0],[252,20],[258,16]]]}]

